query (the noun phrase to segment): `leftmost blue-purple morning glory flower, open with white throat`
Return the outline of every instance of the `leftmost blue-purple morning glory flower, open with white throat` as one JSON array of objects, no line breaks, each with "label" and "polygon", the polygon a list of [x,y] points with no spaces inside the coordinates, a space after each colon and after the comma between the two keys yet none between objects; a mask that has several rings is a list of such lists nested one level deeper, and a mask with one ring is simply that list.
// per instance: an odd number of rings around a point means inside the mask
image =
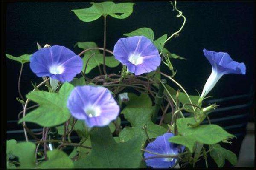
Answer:
[{"label": "leftmost blue-purple morning glory flower, open with white throat", "polygon": [[59,45],[42,48],[30,58],[30,68],[38,77],[49,76],[61,82],[70,82],[82,67],[81,57]]}]

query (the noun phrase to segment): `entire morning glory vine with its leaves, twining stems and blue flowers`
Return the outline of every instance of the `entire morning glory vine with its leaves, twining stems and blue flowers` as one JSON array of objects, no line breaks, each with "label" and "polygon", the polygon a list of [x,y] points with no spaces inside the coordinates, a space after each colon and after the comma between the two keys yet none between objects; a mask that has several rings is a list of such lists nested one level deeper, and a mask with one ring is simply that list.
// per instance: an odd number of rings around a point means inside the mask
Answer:
[{"label": "entire morning glory vine with its leaves, twining stems and blue flowers", "polygon": [[[225,159],[235,165],[236,155],[220,145],[235,136],[211,124],[208,115],[218,105],[204,105],[204,99],[224,74],[245,74],[244,63],[233,61],[226,52],[204,49],[212,72],[198,96],[189,95],[175,80],[172,65],[172,59],[184,58],[165,48],[186,24],[176,1],[170,7],[183,21],[179,30],[155,38],[150,28],[138,28],[123,34],[112,49],[106,49],[107,19],[129,17],[134,3],[91,4],[72,13],[83,22],[104,18],[102,47],[78,42],[82,50],[75,54],[62,45],[37,44],[33,54],[6,54],[21,63],[18,100],[23,111],[18,123],[26,138],[7,141],[7,168],[195,167],[199,159],[208,167],[209,156],[218,167]],[[42,82],[22,96],[20,78],[26,63]],[[106,67],[118,65],[118,73],[107,72]],[[164,73],[160,65],[169,71]],[[99,68],[98,75],[88,77],[93,68]],[[208,123],[201,125],[204,120]],[[40,125],[42,131],[35,134],[27,122]],[[79,136],[78,142],[71,133]],[[73,151],[65,151],[67,147]]]}]

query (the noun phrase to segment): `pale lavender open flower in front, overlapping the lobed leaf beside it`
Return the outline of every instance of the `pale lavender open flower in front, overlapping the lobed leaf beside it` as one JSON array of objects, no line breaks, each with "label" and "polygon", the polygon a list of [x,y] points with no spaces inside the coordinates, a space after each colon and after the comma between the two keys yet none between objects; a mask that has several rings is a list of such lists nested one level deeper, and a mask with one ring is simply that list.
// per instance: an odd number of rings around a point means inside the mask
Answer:
[{"label": "pale lavender open flower in front, overlapping the lobed leaf beside it", "polygon": [[107,88],[91,85],[76,86],[68,98],[67,108],[72,116],[83,119],[88,127],[108,125],[120,111]]}]

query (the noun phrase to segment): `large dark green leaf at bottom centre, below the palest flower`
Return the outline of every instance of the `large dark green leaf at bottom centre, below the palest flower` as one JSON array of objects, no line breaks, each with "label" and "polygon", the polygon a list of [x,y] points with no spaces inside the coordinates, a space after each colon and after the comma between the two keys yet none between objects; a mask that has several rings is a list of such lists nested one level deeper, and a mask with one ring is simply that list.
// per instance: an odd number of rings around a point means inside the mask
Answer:
[{"label": "large dark green leaf at bottom centre, below the palest flower", "polygon": [[[140,138],[140,137],[138,137]],[[138,168],[140,167],[140,139],[116,143],[108,127],[91,130],[92,151],[75,161],[75,168]]]}]

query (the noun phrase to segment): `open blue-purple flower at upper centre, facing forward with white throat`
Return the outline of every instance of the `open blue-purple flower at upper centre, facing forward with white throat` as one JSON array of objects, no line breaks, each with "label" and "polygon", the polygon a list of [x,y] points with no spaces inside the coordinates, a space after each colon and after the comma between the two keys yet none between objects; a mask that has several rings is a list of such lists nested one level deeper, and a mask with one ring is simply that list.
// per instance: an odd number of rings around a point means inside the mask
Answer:
[{"label": "open blue-purple flower at upper centre, facing forward with white throat", "polygon": [[144,36],[120,38],[113,53],[115,58],[135,75],[154,71],[161,62],[157,48]]}]

